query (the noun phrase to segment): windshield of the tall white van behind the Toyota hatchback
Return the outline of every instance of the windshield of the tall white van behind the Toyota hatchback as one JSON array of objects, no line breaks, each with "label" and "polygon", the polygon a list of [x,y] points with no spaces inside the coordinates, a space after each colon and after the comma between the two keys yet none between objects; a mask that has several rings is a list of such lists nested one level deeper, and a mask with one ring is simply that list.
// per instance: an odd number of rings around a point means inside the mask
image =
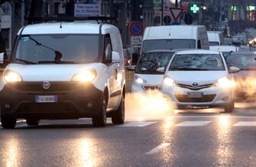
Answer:
[{"label": "windshield of the tall white van behind the Toyota hatchback", "polygon": [[144,40],[142,53],[149,50],[196,49],[196,40]]}]

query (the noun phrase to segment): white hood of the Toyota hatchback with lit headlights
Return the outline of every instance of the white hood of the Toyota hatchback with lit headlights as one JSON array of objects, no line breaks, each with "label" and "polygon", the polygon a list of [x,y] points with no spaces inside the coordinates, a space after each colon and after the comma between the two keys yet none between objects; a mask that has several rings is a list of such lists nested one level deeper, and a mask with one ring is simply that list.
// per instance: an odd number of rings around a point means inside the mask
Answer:
[{"label": "white hood of the Toyota hatchback with lit headlights", "polygon": [[202,85],[215,82],[227,74],[226,71],[169,71],[166,75],[178,83],[199,82],[199,85]]}]

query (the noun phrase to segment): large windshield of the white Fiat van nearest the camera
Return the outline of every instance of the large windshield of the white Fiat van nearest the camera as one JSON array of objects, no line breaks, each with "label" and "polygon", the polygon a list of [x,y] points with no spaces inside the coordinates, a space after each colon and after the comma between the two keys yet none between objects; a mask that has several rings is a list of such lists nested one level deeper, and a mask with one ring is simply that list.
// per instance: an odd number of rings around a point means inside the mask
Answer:
[{"label": "large windshield of the white Fiat van nearest the camera", "polygon": [[30,63],[93,63],[98,59],[99,36],[87,34],[24,35],[18,42],[17,60]]}]

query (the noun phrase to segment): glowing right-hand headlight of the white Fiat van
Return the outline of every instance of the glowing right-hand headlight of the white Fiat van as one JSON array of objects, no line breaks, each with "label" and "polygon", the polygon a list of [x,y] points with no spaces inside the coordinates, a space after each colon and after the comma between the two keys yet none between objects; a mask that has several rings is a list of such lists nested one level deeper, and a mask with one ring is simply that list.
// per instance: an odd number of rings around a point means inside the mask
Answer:
[{"label": "glowing right-hand headlight of the white Fiat van", "polygon": [[74,82],[92,82],[96,79],[97,72],[95,70],[85,70],[73,76]]}]

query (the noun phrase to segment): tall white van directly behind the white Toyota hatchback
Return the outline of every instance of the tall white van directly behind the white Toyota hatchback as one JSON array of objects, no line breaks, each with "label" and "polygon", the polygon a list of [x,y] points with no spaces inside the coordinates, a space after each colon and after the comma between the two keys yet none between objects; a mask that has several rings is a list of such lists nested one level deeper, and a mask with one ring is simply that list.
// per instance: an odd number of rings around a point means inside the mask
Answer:
[{"label": "tall white van directly behind the white Toyota hatchback", "polygon": [[203,25],[147,27],[142,42],[141,53],[150,50],[209,50],[206,27]]}]

